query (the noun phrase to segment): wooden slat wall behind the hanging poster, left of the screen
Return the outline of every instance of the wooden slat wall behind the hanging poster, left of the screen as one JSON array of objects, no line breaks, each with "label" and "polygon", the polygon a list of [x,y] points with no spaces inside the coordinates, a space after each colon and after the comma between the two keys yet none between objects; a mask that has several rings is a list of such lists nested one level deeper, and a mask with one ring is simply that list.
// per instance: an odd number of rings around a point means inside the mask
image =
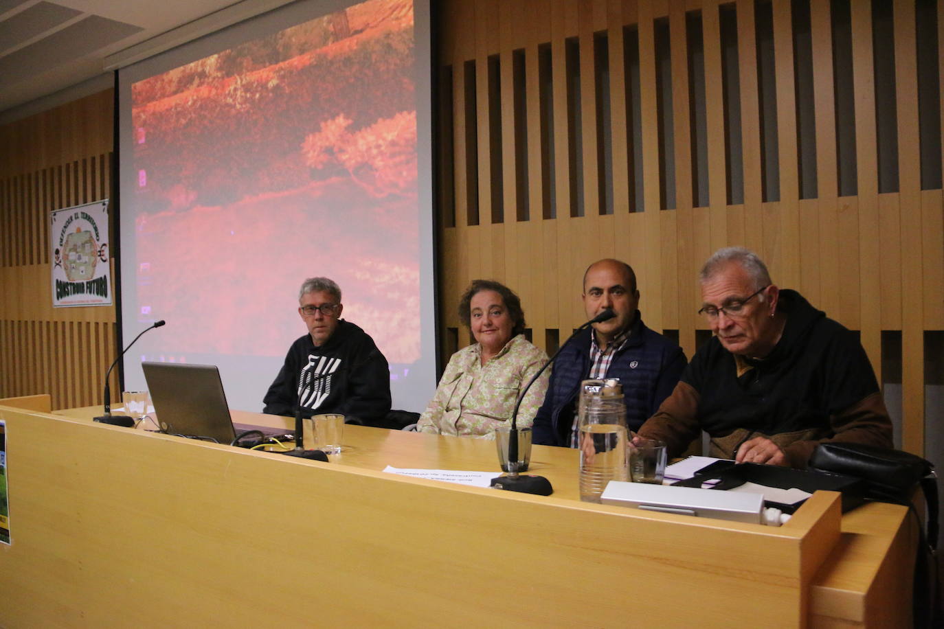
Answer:
[{"label": "wooden slat wall behind the hanging poster, left of the screen", "polygon": [[[115,308],[52,307],[49,212],[109,198],[111,99],[104,91],[0,127],[0,397],[101,403]],[[117,372],[111,390],[119,396]]]}]

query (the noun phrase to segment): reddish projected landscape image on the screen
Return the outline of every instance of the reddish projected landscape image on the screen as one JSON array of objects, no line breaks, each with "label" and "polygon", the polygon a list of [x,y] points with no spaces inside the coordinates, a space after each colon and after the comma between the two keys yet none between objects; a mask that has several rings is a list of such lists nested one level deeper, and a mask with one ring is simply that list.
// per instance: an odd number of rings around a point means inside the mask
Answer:
[{"label": "reddish projected landscape image on the screen", "polygon": [[328,275],[417,360],[413,66],[412,2],[371,0],[135,83],[143,317],[194,353],[283,356],[301,281]]}]

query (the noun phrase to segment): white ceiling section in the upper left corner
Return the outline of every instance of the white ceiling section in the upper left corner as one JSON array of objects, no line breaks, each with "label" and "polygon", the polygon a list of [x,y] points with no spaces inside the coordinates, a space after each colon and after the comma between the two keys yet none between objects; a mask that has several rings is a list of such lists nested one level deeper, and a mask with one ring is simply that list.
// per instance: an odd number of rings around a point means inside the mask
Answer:
[{"label": "white ceiling section in the upper left corner", "polygon": [[0,114],[289,0],[0,0]]}]

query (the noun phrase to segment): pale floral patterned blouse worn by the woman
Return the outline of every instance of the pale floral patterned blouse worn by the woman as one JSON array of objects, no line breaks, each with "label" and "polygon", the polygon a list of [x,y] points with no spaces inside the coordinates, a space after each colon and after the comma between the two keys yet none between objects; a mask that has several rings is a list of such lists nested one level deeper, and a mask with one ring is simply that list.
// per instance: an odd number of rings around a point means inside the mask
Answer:
[{"label": "pale floral patterned blouse worn by the woman", "polygon": [[[512,419],[518,391],[548,360],[544,350],[519,334],[496,356],[481,364],[481,347],[474,343],[449,359],[436,394],[420,416],[416,429],[424,433],[495,439],[497,426]],[[519,428],[531,426],[548,390],[549,372],[531,385],[518,409]]]}]

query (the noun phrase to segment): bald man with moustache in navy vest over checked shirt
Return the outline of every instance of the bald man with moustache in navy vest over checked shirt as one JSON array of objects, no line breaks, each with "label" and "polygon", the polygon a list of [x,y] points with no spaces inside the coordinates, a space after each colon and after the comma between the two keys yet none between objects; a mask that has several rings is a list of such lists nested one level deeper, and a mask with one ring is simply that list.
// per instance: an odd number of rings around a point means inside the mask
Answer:
[{"label": "bald man with moustache in navy vest over checked shirt", "polygon": [[619,378],[627,422],[638,430],[685,367],[682,349],[643,323],[636,275],[629,264],[613,259],[591,264],[583,273],[582,299],[587,319],[606,308],[612,308],[615,317],[584,330],[554,360],[548,393],[534,418],[534,443],[576,447],[577,398],[587,378]]}]

